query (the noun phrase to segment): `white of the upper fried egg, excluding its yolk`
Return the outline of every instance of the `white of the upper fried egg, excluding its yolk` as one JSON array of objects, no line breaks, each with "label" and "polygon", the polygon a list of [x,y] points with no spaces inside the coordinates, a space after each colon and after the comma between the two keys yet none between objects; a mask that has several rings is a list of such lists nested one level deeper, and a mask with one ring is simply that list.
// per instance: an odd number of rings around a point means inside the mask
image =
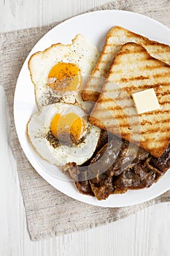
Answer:
[{"label": "white of the upper fried egg, excluding its yolk", "polygon": [[56,93],[50,86],[47,86],[48,74],[55,64],[65,62],[76,64],[80,69],[82,79],[84,79],[92,73],[98,57],[98,49],[81,34],[77,34],[70,45],[58,43],[42,52],[34,53],[28,61],[28,69],[31,80],[34,83],[36,105],[38,108],[40,109],[45,105],[55,102],[72,104],[78,102],[82,108],[86,108],[86,103],[82,102],[80,90]]}]

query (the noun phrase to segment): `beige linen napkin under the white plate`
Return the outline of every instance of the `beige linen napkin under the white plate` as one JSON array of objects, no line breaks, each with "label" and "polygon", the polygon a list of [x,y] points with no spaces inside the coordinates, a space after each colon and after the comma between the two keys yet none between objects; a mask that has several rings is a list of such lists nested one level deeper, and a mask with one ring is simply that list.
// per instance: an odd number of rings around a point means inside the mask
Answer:
[{"label": "beige linen napkin under the white plate", "polygon": [[[164,23],[170,28],[170,1],[112,1],[93,10],[128,10],[139,12]],[[23,153],[15,131],[13,99],[20,68],[31,48],[47,31],[58,23],[41,28],[12,31],[0,35],[0,83],[7,95],[11,119],[11,143],[18,164],[20,188],[26,207],[28,231],[32,240],[104,225],[116,221],[154,203],[170,201],[170,191],[147,203],[125,208],[101,208],[80,203],[51,187],[31,167]],[[23,85],[24,86],[24,85]]]}]

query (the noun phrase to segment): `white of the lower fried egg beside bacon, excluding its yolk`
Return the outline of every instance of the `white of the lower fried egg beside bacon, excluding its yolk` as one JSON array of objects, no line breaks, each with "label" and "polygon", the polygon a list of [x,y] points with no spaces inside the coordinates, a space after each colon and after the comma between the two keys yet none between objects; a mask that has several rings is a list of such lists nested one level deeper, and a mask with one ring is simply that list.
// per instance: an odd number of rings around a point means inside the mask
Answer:
[{"label": "white of the lower fried egg beside bacon, excluding its yolk", "polygon": [[[50,131],[50,123],[55,114],[76,113],[83,117],[85,121],[85,139],[82,143],[73,146],[58,146],[54,148],[47,140],[47,132]],[[81,108],[76,105],[55,103],[47,105],[35,113],[30,118],[27,125],[28,139],[37,153],[47,162],[53,165],[63,166],[68,162],[76,162],[77,165],[82,165],[90,157],[96,149],[100,136],[98,127],[93,126],[88,122],[88,116]]]}]

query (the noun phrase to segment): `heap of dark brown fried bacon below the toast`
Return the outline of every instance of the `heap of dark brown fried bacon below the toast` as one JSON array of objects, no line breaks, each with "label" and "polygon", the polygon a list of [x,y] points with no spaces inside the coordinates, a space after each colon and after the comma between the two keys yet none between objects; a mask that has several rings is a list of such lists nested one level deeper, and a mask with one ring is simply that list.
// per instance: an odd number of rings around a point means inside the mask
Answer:
[{"label": "heap of dark brown fried bacon below the toast", "polygon": [[[170,145],[161,157],[151,157],[147,151],[120,140],[115,136],[90,159],[90,166],[66,165],[65,172],[75,181],[77,189],[85,195],[95,195],[104,200],[111,194],[124,193],[128,189],[150,187],[158,181],[170,166]],[[110,138],[109,138],[110,139]],[[101,147],[101,148],[100,148]],[[88,162],[89,164],[89,162]]]}]

